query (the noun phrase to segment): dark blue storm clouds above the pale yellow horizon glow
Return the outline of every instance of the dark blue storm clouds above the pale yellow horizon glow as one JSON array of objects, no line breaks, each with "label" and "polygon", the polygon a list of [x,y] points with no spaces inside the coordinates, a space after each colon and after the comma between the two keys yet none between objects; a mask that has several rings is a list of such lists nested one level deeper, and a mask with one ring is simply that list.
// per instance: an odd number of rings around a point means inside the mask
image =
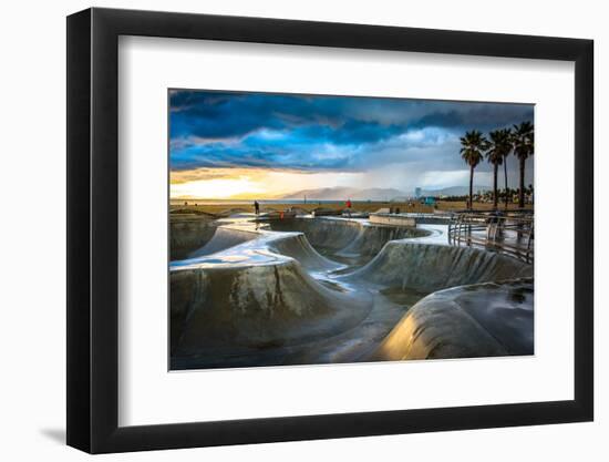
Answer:
[{"label": "dark blue storm clouds above the pale yellow horizon glow", "polygon": [[[379,97],[171,92],[172,170],[463,168],[458,136],[533,121],[533,106]],[[487,170],[481,165],[482,170]]]}]

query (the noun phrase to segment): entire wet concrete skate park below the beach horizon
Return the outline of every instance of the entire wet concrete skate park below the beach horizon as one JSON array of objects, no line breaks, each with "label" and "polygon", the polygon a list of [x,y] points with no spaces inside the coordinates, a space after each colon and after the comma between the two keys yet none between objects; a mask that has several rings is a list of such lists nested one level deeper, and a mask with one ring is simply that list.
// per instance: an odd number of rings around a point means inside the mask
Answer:
[{"label": "entire wet concrete skate park below the beach horizon", "polygon": [[176,217],[172,369],[533,355],[522,225],[399,215]]}]

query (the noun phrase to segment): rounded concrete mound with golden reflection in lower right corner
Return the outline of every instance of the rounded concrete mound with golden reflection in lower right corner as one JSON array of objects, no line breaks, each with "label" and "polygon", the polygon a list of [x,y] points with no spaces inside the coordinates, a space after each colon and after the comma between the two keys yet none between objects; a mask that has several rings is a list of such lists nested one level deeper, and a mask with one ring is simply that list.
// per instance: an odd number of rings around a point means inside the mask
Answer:
[{"label": "rounded concrete mound with golden reflection in lower right corner", "polygon": [[415,304],[364,360],[534,353],[533,279],[434,292]]}]

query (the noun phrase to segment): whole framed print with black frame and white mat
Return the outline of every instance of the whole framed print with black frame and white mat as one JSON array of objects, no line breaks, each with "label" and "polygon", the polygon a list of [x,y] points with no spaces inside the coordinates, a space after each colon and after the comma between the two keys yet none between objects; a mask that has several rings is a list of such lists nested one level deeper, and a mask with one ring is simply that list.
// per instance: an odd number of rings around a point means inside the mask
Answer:
[{"label": "whole framed print with black frame and white mat", "polygon": [[68,443],[588,421],[592,42],[68,18]]}]

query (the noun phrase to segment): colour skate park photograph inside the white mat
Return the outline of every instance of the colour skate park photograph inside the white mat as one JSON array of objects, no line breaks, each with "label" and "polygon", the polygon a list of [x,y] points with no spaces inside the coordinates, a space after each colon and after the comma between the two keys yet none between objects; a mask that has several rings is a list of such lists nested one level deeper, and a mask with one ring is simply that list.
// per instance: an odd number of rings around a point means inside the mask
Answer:
[{"label": "colour skate park photograph inside the white mat", "polygon": [[534,104],[167,93],[169,370],[535,353]]}]

